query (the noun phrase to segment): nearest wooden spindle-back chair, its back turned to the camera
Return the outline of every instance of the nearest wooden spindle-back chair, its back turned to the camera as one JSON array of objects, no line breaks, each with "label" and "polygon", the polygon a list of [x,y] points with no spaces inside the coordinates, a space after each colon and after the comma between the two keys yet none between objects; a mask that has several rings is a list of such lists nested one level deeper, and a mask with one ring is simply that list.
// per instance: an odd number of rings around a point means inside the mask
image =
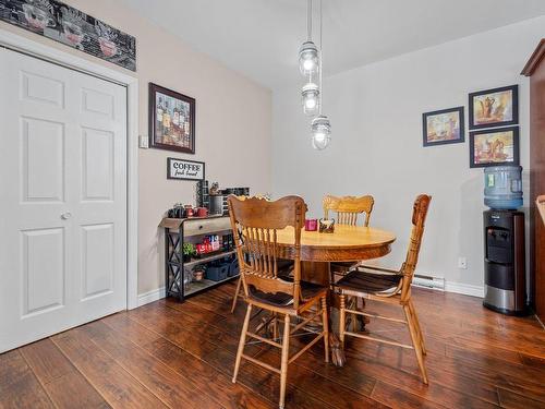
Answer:
[{"label": "nearest wooden spindle-back chair, its back turned to the camera", "polygon": [[[280,375],[279,408],[283,408],[288,365],[320,339],[324,339],[325,360],[329,361],[326,303],[328,289],[301,280],[301,230],[304,226],[306,204],[299,196],[286,196],[268,202],[256,197],[241,201],[231,195],[228,197],[228,205],[244,288],[244,300],[247,303],[232,381],[237,382],[242,359],[278,373]],[[277,231],[284,228],[293,229],[294,262],[293,277],[290,279],[278,275]],[[270,312],[276,327],[280,318],[283,318],[281,341],[277,336],[271,339],[249,330],[253,308]],[[292,323],[292,317],[301,321],[294,320]],[[317,320],[322,322],[319,334],[290,357],[290,336],[299,335],[295,333]],[[275,330],[276,335],[277,332]],[[246,337],[279,348],[281,350],[280,369],[245,354]]]}]

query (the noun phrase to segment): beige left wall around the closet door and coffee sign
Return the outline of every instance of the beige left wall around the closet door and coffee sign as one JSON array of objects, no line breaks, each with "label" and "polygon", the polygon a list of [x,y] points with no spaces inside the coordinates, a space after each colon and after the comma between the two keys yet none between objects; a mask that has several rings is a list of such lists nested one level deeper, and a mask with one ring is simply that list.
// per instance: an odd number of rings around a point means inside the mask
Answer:
[{"label": "beige left wall around the closet door and coffee sign", "polygon": [[148,133],[149,82],[196,99],[195,155],[160,149],[141,149],[138,155],[138,293],[154,292],[164,285],[165,277],[162,231],[157,226],[173,203],[195,201],[195,183],[167,180],[167,157],[205,161],[206,177],[223,187],[269,191],[271,93],[192,50],[120,2],[63,1],[135,36],[137,71],[123,70],[4,22],[0,22],[0,28],[138,77],[142,135]]}]

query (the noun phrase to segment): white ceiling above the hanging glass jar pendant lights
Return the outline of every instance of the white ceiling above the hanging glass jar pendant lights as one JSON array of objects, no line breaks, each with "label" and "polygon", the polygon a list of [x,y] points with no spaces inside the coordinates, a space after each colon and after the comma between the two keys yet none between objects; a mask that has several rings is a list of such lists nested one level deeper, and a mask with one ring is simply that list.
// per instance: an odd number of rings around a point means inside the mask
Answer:
[{"label": "white ceiling above the hanging glass jar pendant lights", "polygon": [[[269,88],[300,81],[306,0],[122,1]],[[545,14],[545,0],[323,1],[324,75]]]}]

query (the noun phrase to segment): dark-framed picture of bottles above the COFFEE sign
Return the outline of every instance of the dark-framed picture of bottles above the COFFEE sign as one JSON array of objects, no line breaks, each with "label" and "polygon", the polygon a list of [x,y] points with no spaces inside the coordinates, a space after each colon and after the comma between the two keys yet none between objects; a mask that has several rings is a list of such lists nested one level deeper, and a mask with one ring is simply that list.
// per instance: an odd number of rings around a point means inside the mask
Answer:
[{"label": "dark-framed picture of bottles above the COFFEE sign", "polygon": [[195,99],[149,83],[149,146],[195,153]]}]

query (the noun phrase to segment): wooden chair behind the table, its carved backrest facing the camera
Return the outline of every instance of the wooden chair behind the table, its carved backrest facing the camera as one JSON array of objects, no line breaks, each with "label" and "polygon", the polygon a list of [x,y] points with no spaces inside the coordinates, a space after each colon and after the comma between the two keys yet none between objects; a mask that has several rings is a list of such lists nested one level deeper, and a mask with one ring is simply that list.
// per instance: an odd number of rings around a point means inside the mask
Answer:
[{"label": "wooden chair behind the table, its carved backrest facing the camera", "polygon": [[[375,200],[371,195],[365,196],[334,196],[326,195],[322,202],[324,208],[324,218],[329,219],[330,213],[335,213],[337,225],[356,226],[360,215],[364,216],[363,226],[368,227],[371,213]],[[344,276],[350,268],[355,267],[358,262],[335,262],[330,264],[331,282],[336,277]]]}]

